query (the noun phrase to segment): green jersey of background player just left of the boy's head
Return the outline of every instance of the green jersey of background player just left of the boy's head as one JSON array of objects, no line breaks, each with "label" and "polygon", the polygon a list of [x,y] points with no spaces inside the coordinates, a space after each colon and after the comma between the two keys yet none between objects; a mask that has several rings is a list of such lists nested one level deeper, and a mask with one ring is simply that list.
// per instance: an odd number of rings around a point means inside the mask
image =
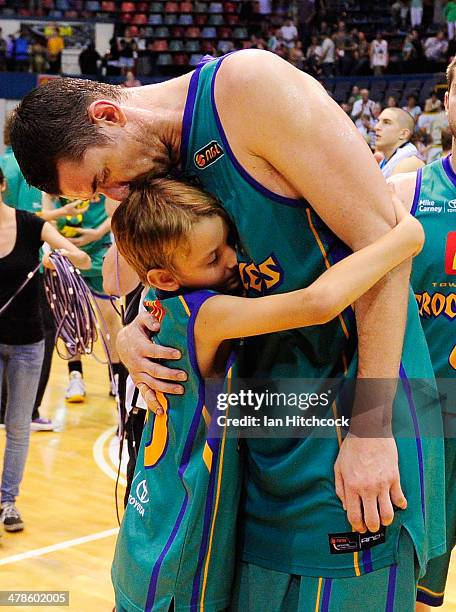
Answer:
[{"label": "green jersey of background player just left of the boy's head", "polygon": [[[93,229],[100,226],[103,221],[106,221],[108,215],[105,209],[105,196],[100,195],[98,199],[91,200],[87,207],[87,200],[81,203],[81,213],[75,216],[66,216],[57,219],[57,229],[66,238],[75,238],[78,236],[78,228]],[[55,205],[61,208],[68,204],[70,200],[67,198],[57,198]],[[111,245],[111,235],[105,234],[99,240],[95,240],[90,244],[80,247],[85,251],[92,260],[90,270],[81,270],[83,276],[94,277],[101,276],[103,259],[107,249]]]}]

